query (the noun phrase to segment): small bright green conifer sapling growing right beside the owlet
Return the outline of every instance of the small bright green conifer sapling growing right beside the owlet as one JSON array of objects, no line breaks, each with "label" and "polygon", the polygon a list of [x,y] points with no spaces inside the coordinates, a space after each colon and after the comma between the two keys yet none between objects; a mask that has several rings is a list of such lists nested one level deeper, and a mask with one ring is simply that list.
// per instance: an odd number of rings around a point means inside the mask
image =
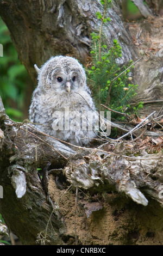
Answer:
[{"label": "small bright green conifer sapling growing right beside the owlet", "polygon": [[[118,59],[122,57],[122,47],[117,39],[113,40],[110,49],[106,46],[102,29],[105,23],[110,21],[110,17],[106,17],[106,11],[110,7],[111,1],[104,0],[101,1],[101,4],[103,5],[102,13],[99,11],[96,13],[97,19],[101,21],[101,27],[97,32],[91,34],[92,66],[87,70],[87,78],[98,110],[102,108],[101,104],[103,104],[124,113],[126,109],[130,108],[129,100],[136,95],[137,84],[131,83],[132,78],[130,69],[128,69],[128,67],[134,68],[133,60],[130,60],[128,66],[120,67]],[[137,109],[133,109],[133,111],[135,110],[137,111]],[[116,117],[116,114],[112,114],[113,116]],[[124,119],[122,116],[120,118]]]}]

